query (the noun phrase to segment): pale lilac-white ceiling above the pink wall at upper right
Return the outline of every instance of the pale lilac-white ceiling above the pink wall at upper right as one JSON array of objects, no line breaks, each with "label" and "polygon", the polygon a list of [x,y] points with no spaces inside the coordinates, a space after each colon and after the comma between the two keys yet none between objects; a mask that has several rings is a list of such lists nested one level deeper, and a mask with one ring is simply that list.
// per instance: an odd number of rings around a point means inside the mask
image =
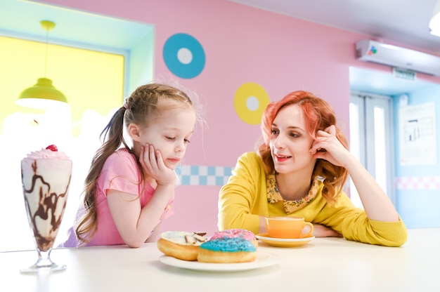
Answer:
[{"label": "pale lilac-white ceiling above the pink wall at upper right", "polygon": [[436,0],[230,0],[440,55],[429,33]]}]

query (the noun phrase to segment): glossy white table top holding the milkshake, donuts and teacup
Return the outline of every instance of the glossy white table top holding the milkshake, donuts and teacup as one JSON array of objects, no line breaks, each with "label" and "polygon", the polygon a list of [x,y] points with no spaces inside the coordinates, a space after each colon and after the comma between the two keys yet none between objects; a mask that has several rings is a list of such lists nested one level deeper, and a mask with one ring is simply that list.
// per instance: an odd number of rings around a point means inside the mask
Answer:
[{"label": "glossy white table top holding the milkshake, donuts and teacup", "polygon": [[67,265],[53,274],[20,274],[36,251],[0,253],[0,291],[440,291],[440,228],[409,230],[400,248],[337,238],[301,247],[260,243],[277,265],[241,272],[198,272],[160,263],[155,244],[141,248],[60,248]]}]

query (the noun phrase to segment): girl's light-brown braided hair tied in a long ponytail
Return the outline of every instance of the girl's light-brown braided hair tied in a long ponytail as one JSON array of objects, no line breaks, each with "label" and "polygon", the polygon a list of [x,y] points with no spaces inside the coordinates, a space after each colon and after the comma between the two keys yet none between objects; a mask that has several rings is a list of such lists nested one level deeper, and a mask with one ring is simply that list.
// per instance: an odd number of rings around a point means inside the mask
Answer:
[{"label": "girl's light-brown braided hair tied in a long ponytail", "polygon": [[[131,154],[134,154],[124,140],[124,126],[128,126],[131,123],[147,126],[147,117],[154,117],[157,112],[162,110],[157,107],[157,101],[160,98],[176,100],[181,102],[184,107],[195,107],[188,95],[175,86],[146,84],[139,86],[131,93],[124,105],[113,114],[109,123],[101,132],[100,138],[103,140],[103,145],[96,151],[85,180],[82,206],[84,213],[79,214],[79,217],[75,220],[75,234],[77,234],[77,238],[81,241],[82,245],[86,245],[91,241],[98,227],[98,211],[95,198],[96,185],[105,160],[121,145],[124,145]],[[196,97],[194,96],[193,98]],[[138,157],[136,158],[136,163],[141,172],[138,183],[142,184],[144,171]]]}]

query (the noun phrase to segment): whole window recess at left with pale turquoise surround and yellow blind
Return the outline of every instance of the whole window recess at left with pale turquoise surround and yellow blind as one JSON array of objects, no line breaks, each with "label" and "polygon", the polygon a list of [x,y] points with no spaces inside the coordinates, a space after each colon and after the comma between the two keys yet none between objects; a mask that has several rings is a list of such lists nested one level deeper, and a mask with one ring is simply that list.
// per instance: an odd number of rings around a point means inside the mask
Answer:
[{"label": "whole window recess at left with pale turquoise surround and yellow blind", "polygon": [[[39,1],[4,2],[0,1],[0,181],[7,195],[0,204],[0,232],[14,236],[0,242],[0,251],[34,249],[22,198],[20,159],[47,144],[58,145],[73,160],[56,246],[72,225],[91,157],[101,144],[98,136],[109,116],[136,87],[153,80],[155,30],[151,24]],[[57,21],[48,35],[45,74],[46,37],[32,26],[39,26],[35,19],[51,18]],[[15,105],[20,92],[45,75],[65,93],[69,111]]]}]

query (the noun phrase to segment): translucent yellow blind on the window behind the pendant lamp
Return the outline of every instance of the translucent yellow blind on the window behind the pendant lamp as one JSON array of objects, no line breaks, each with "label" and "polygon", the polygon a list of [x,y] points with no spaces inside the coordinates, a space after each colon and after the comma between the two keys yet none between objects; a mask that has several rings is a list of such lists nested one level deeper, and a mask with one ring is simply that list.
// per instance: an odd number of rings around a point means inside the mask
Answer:
[{"label": "translucent yellow blind on the window behind the pendant lamp", "polygon": [[41,77],[66,95],[72,134],[78,135],[84,112],[106,116],[122,105],[124,55],[0,36],[0,133],[14,112],[43,113],[15,105],[20,92]]}]

